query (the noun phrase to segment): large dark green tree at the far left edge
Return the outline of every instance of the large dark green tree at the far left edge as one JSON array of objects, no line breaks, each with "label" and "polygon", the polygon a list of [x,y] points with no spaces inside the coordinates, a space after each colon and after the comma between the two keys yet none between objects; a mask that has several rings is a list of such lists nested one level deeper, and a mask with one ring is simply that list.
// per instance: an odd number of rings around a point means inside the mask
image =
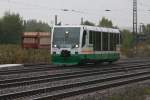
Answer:
[{"label": "large dark green tree at the far left edge", "polygon": [[21,42],[23,20],[19,14],[5,13],[1,19],[0,43],[18,44]]}]

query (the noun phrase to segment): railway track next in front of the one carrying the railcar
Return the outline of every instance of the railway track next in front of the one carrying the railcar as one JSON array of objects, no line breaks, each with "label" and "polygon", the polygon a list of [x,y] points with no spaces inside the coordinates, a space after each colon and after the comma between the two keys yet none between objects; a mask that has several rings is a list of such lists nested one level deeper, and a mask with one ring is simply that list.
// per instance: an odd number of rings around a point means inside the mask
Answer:
[{"label": "railway track next in front of the one carrying the railcar", "polygon": [[[6,79],[6,80],[0,80],[0,89],[3,88],[10,88],[10,87],[16,87],[16,86],[26,86],[26,85],[32,85],[32,84],[40,84],[40,83],[46,83],[51,81],[57,81],[57,80],[63,80],[63,79],[70,79],[70,78],[77,78],[77,77],[83,77],[83,76],[91,76],[91,75],[97,75],[97,74],[106,74],[106,73],[112,73],[112,72],[118,72],[118,71],[127,71],[127,70],[134,70],[134,69],[143,69],[143,68],[149,68],[147,64],[138,64],[138,65],[132,65],[129,67],[111,67],[111,68],[100,68],[100,69],[83,69],[83,70],[77,70],[73,72],[66,72],[66,73],[58,73],[58,74],[52,74],[52,75],[42,75],[42,76],[36,76],[36,77],[20,77],[15,79]],[[141,67],[142,66],[142,67]]]}]

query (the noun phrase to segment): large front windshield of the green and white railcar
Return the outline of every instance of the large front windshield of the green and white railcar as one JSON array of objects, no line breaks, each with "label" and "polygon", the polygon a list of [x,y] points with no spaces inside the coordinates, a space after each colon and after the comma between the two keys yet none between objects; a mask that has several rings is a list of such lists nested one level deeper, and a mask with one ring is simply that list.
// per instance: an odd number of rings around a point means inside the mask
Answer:
[{"label": "large front windshield of the green and white railcar", "polygon": [[53,34],[53,44],[57,48],[74,48],[79,45],[79,27],[55,27]]}]

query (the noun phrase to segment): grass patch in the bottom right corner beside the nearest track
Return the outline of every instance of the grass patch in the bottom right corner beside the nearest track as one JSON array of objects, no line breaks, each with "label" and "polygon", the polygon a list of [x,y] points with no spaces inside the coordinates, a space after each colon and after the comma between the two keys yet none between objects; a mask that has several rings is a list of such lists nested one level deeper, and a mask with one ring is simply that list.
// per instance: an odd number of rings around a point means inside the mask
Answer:
[{"label": "grass patch in the bottom right corner beside the nearest track", "polygon": [[[95,95],[87,95],[82,98],[76,98],[73,100],[146,100],[146,97],[150,97],[150,87],[126,87],[123,90],[116,90],[111,94],[104,93]],[[149,100],[149,99],[148,99]]]}]

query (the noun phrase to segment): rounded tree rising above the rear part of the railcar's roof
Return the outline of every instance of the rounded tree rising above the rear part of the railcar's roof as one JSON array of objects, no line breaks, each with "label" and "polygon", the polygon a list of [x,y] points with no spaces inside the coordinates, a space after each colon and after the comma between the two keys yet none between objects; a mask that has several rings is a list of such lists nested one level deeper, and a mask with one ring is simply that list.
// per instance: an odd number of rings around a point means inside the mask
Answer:
[{"label": "rounded tree rising above the rear part of the railcar's roof", "polygon": [[111,20],[108,20],[107,18],[103,17],[102,20],[99,21],[98,24],[99,27],[108,27],[113,28],[113,24]]}]

